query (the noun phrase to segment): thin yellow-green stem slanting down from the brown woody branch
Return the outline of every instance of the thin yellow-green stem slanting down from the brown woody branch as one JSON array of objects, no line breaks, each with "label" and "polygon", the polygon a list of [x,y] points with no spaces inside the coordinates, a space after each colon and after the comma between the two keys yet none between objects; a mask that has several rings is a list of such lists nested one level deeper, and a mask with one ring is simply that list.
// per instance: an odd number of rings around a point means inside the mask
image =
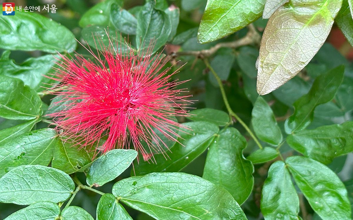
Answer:
[{"label": "thin yellow-green stem slanting down from the brown woody branch", "polygon": [[207,68],[211,71],[211,73],[215,76],[217,82],[218,82],[218,85],[220,87],[220,90],[221,90],[221,94],[222,94],[222,98],[223,98],[223,101],[226,105],[226,108],[227,108],[227,111],[229,113],[229,115],[231,115],[231,117],[234,117],[235,119],[237,119],[239,121],[239,123],[245,128],[245,130],[250,134],[250,136],[252,137],[252,139],[255,141],[255,143],[257,144],[257,146],[262,149],[262,145],[260,144],[260,142],[257,140],[256,136],[254,133],[252,133],[252,131],[250,130],[250,128],[245,124],[245,122],[243,120],[241,120],[241,118],[235,114],[235,112],[233,112],[231,106],[229,105],[229,102],[228,102],[228,99],[227,99],[227,96],[226,96],[226,92],[224,90],[224,87],[223,87],[223,83],[222,83],[222,80],[220,79],[220,77],[217,75],[217,73],[215,72],[215,70],[211,67],[210,63],[208,62],[207,59],[204,59],[204,62],[207,66]]}]

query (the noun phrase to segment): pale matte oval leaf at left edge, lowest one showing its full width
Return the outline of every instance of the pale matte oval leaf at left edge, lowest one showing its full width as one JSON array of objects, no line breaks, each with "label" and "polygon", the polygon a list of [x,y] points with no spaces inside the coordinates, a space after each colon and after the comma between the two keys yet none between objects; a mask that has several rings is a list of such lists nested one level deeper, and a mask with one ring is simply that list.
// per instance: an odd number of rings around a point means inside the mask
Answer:
[{"label": "pale matte oval leaf at left edge, lowest one showing its full width", "polygon": [[75,188],[61,170],[41,165],[23,165],[0,178],[0,202],[30,205],[35,202],[63,202]]}]

